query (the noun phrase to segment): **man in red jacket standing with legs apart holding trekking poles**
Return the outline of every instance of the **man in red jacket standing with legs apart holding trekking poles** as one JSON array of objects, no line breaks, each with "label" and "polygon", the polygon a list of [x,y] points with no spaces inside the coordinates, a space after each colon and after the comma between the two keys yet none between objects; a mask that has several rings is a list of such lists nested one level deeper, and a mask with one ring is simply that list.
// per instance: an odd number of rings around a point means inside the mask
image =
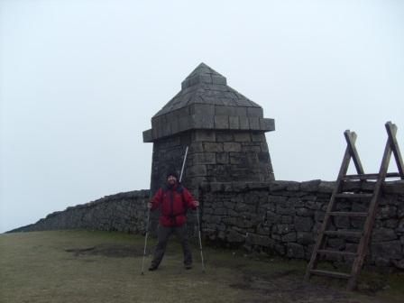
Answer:
[{"label": "man in red jacket standing with legs apart holding trekking poles", "polygon": [[184,266],[192,268],[192,254],[189,250],[187,228],[185,225],[187,208],[196,209],[199,202],[178,181],[176,172],[167,174],[166,184],[152,197],[148,207],[153,211],[160,208],[158,243],[154,249],[152,265],[149,271],[155,271],[160,265],[167,247],[170,234],[177,234],[184,253]]}]

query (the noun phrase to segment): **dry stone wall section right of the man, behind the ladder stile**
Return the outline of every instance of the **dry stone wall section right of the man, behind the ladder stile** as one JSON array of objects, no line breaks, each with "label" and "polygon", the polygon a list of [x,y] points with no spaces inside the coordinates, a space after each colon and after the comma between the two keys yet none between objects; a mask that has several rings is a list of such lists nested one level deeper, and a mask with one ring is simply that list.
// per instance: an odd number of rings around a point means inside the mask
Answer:
[{"label": "dry stone wall section right of the man, behind the ladder stile", "polygon": [[[211,241],[252,251],[306,259],[311,256],[334,182],[273,181],[212,183],[203,193],[203,230]],[[371,183],[347,183],[346,190],[371,191]],[[368,199],[369,200],[369,199]],[[339,211],[364,211],[365,201],[342,200]],[[352,208],[351,208],[352,207]],[[364,218],[335,217],[330,229],[360,229]],[[327,247],[354,252],[358,239],[329,236]],[[336,265],[347,260],[328,257]],[[367,264],[404,269],[404,183],[383,188]]]}]

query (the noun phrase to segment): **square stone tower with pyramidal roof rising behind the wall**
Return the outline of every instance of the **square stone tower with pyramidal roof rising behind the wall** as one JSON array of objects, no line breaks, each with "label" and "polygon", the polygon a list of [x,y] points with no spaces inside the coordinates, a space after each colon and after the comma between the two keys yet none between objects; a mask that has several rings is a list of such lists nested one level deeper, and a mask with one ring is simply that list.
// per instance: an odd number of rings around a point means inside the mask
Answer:
[{"label": "square stone tower with pyramidal roof rising behind the wall", "polygon": [[152,193],[168,170],[180,172],[187,146],[182,183],[194,195],[202,183],[274,179],[264,135],[275,129],[274,120],[263,117],[261,106],[204,63],[181,88],[143,132],[143,142],[153,142]]}]

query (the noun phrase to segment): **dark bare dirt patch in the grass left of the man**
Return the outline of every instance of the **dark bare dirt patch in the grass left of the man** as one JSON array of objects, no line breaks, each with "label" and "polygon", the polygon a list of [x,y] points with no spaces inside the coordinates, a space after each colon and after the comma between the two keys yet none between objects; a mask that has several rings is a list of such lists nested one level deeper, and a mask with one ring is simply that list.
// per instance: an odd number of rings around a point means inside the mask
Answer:
[{"label": "dark bare dirt patch in the grass left of the man", "polygon": [[129,245],[96,245],[85,248],[65,249],[67,253],[74,253],[76,257],[82,255],[103,255],[110,258],[139,257],[143,251]]}]

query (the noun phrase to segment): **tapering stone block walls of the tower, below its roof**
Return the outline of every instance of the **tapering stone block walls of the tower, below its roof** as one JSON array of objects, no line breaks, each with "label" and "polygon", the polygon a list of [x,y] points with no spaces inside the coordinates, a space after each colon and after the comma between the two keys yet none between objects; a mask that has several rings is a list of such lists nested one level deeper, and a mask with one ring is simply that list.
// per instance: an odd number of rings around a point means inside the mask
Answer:
[{"label": "tapering stone block walls of the tower, below its roof", "polygon": [[206,182],[269,182],[274,179],[263,132],[196,130],[153,143],[152,192],[168,170],[180,169],[189,147],[183,184],[197,196]]}]

